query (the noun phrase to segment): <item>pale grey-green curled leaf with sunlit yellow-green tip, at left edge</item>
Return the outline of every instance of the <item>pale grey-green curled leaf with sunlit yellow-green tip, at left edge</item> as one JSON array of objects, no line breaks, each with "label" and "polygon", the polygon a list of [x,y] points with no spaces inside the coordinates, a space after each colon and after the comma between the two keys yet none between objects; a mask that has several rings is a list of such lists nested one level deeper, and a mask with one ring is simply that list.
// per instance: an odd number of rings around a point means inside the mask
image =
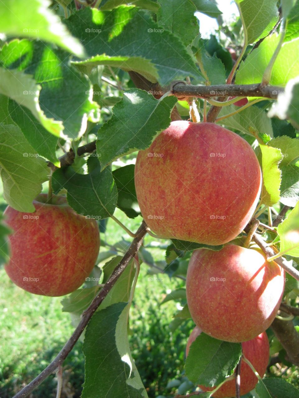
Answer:
[{"label": "pale grey-green curled leaf with sunlit yellow-green tip, at left edge", "polygon": [[63,129],[62,123],[47,119],[40,109],[40,90],[41,86],[30,75],[20,70],[0,68],[0,93],[26,106],[47,131],[59,137]]}]

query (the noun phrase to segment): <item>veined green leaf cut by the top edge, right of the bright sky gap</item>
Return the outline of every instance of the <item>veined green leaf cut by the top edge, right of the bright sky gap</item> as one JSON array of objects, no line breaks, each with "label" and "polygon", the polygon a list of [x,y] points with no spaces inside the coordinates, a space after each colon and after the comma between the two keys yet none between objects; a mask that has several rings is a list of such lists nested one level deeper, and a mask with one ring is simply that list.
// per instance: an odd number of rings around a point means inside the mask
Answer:
[{"label": "veined green leaf cut by the top edge, right of the bright sky gap", "polygon": [[244,29],[245,45],[265,37],[278,19],[276,0],[235,0]]}]

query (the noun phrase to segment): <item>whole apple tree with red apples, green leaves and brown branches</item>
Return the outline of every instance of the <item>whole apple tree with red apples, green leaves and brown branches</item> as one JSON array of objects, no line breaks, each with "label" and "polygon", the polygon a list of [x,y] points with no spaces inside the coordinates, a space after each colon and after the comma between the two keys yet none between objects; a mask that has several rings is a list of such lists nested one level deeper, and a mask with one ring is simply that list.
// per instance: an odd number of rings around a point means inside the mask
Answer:
[{"label": "whole apple tree with red apples, green leaves and brown branches", "polygon": [[[53,372],[59,397],[78,339],[83,398],[148,397],[128,342],[140,267],[186,281],[163,300],[183,303],[171,328],[195,326],[177,397],[299,397],[264,377],[299,366],[299,1],[235,0],[228,25],[220,3],[1,2],[1,259],[74,324],[16,398]],[[130,242],[100,242],[107,220]]]}]

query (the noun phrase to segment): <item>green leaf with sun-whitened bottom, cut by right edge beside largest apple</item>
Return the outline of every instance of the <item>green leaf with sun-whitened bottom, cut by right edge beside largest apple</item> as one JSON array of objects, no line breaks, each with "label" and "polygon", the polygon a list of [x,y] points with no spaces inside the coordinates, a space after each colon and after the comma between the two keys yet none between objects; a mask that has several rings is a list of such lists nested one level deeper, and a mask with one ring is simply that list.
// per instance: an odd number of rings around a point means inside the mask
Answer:
[{"label": "green leaf with sun-whitened bottom, cut by right edge beside largest apple", "polygon": [[280,166],[281,186],[280,202],[283,205],[295,207],[299,201],[299,167],[291,164]]}]

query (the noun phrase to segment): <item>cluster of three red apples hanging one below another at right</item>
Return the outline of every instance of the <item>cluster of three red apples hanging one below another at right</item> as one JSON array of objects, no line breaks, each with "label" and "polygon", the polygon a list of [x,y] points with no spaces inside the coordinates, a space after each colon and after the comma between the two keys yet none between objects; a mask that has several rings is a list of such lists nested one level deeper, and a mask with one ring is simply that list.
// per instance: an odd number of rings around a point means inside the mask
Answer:
[{"label": "cluster of three red apples hanging one below another at right", "polygon": [[[263,376],[269,360],[265,330],[283,296],[284,271],[274,261],[267,262],[258,248],[228,243],[250,221],[261,183],[252,147],[213,123],[172,122],[136,160],[138,203],[153,232],[163,238],[225,244],[218,251],[197,249],[191,256],[186,293],[197,327],[187,353],[201,332],[240,342],[244,355]],[[242,363],[241,394],[257,381]],[[228,381],[213,396],[235,394],[234,381]]]}]

